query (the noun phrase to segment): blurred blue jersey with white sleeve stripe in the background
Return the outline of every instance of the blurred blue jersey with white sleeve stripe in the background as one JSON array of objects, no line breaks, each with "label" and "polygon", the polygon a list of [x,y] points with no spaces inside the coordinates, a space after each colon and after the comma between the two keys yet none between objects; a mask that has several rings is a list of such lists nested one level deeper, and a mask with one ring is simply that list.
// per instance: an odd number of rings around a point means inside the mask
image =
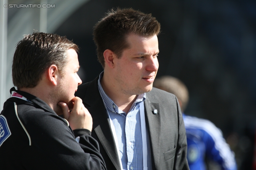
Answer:
[{"label": "blurred blue jersey with white sleeve stripe in the background", "polygon": [[206,170],[205,157],[217,162],[222,170],[236,170],[234,153],[223,138],[222,132],[206,119],[183,114],[188,143],[190,170]]}]

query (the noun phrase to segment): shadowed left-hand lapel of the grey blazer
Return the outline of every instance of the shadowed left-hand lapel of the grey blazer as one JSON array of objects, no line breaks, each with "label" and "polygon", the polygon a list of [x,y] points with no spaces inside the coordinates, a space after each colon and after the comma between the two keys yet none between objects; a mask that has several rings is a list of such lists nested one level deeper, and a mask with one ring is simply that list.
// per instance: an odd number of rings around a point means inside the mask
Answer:
[{"label": "shadowed left-hand lapel of the grey blazer", "polygon": [[88,105],[86,108],[92,115],[93,130],[95,131],[101,145],[105,149],[116,169],[121,170],[118,151],[116,149],[108,113],[106,112],[98,90],[98,77],[88,86],[83,102]]}]

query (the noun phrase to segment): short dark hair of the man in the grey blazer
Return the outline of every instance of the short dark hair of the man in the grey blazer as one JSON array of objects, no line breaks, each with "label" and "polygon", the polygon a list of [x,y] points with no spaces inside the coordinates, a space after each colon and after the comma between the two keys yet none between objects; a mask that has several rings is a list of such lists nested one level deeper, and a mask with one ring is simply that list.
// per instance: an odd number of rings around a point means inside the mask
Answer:
[{"label": "short dark hair of the man in the grey blazer", "polygon": [[129,9],[112,9],[94,27],[94,42],[97,46],[98,61],[105,66],[103,53],[113,51],[118,58],[129,48],[126,36],[129,33],[151,37],[160,33],[160,23],[151,14]]}]

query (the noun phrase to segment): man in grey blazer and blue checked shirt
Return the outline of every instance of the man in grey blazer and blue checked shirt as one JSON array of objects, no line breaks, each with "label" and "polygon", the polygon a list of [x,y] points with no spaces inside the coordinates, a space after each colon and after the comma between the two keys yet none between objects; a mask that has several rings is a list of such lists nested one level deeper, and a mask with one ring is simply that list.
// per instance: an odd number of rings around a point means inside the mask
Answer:
[{"label": "man in grey blazer and blue checked shirt", "polygon": [[110,10],[94,28],[104,72],[78,86],[108,170],[189,170],[177,98],[152,88],[160,23],[132,9]]}]

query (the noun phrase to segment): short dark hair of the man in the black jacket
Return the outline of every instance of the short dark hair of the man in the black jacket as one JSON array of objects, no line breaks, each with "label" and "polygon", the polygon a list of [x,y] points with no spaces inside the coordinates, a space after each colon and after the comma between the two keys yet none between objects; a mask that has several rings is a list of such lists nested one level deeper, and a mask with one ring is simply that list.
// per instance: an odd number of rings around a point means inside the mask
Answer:
[{"label": "short dark hair of the man in the black jacket", "polygon": [[17,88],[33,88],[47,68],[55,64],[60,72],[66,66],[68,49],[78,46],[65,36],[38,33],[25,35],[18,42],[12,63],[12,81]]}]

